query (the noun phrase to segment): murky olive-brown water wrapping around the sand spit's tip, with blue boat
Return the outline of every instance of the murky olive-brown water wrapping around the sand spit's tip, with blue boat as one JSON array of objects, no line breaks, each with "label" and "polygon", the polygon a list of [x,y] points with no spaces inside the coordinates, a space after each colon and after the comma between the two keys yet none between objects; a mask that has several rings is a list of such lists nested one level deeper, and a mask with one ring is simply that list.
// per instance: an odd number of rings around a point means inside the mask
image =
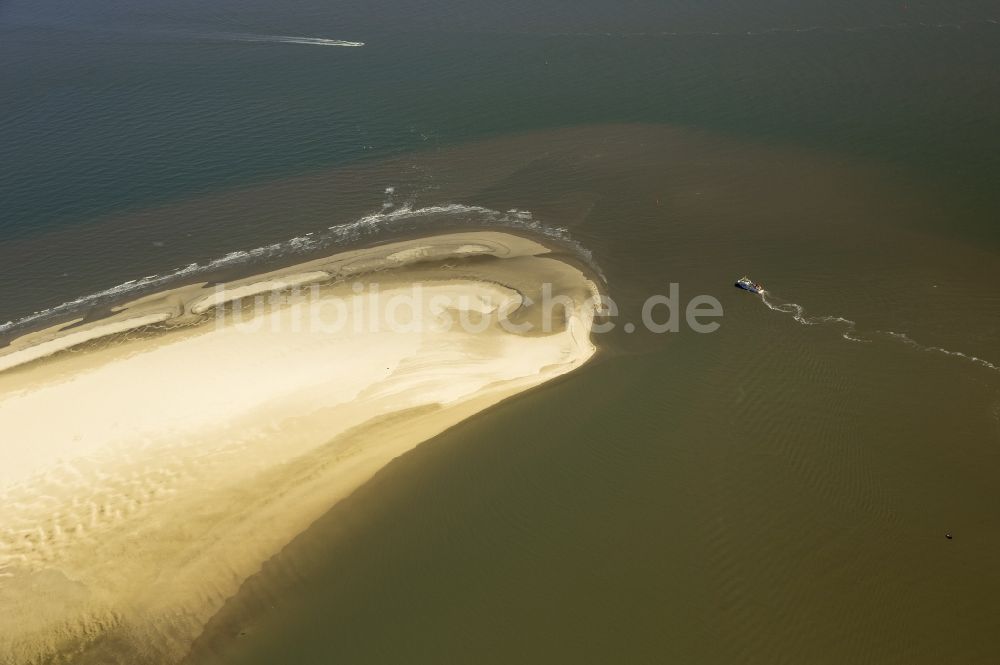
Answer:
[{"label": "murky olive-brown water wrapping around the sand spit's tip, with blue boat", "polygon": [[[482,162],[505,168],[464,177]],[[398,459],[191,662],[988,662],[1000,263],[927,230],[945,202],[878,164],[649,126],[386,169],[434,183],[420,204],[570,226],[621,323],[677,282],[722,326],[619,326]],[[801,321],[733,289],[744,271]]]}]

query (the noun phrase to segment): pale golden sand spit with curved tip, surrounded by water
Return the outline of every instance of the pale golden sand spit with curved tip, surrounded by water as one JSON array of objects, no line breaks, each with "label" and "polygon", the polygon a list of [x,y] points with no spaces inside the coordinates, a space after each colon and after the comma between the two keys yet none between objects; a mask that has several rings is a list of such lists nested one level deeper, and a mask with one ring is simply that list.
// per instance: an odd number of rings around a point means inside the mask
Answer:
[{"label": "pale golden sand spit with curved tip, surrounded by water", "polygon": [[[548,256],[547,256],[548,255]],[[542,283],[570,303],[538,323]],[[532,240],[439,235],[147,296],[0,354],[0,655],[183,656],[390,460],[595,352],[597,287]]]}]

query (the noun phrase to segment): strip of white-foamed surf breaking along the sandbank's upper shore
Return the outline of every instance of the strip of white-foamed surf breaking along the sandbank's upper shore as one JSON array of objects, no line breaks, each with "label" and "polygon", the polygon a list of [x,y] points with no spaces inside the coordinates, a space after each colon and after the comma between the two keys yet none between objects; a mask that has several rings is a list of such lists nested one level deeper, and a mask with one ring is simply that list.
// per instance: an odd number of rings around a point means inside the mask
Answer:
[{"label": "strip of white-foamed surf breaking along the sandbank's upper shore", "polygon": [[[391,206],[391,200],[387,199],[387,201]],[[190,263],[167,273],[131,279],[103,291],[81,296],[55,307],[0,324],[0,335],[6,336],[21,328],[35,326],[49,320],[66,318],[93,307],[103,307],[120,302],[125,298],[136,298],[166,286],[177,285],[182,280],[208,275],[220,269],[258,264],[308,252],[319,252],[327,248],[347,247],[383,235],[417,232],[424,230],[423,227],[432,223],[435,230],[442,231],[502,228],[539,235],[565,247],[597,273],[602,280],[607,281],[600,268],[594,263],[590,251],[574,240],[566,229],[546,226],[534,219],[534,216],[528,211],[512,208],[507,212],[500,212],[482,206],[469,206],[460,203],[423,208],[413,208],[410,204],[406,204],[395,209],[384,208],[381,212],[366,215],[353,222],[331,226],[322,231],[307,233],[282,242],[253,249],[237,250],[205,263]]]}]

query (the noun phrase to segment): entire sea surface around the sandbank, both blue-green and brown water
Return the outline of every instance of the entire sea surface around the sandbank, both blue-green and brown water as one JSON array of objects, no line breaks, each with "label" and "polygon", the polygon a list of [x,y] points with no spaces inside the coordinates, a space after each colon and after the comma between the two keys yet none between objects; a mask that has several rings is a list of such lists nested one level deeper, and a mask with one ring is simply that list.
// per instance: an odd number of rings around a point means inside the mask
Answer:
[{"label": "entire sea surface around the sandbank, both blue-green and brown water", "polygon": [[[998,21],[9,0],[0,335],[497,211],[599,266],[598,357],[332,507],[190,663],[995,663]],[[719,329],[626,332],[672,283]]]}]

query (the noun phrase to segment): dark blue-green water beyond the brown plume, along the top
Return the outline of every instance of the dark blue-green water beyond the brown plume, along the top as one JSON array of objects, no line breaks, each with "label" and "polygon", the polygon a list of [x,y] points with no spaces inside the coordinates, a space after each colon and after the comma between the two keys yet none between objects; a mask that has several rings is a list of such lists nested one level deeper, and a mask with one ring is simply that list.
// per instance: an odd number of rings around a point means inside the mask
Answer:
[{"label": "dark blue-green water beyond the brown plume, along the top", "polygon": [[[532,128],[661,122],[833,146],[989,191],[989,3],[13,2],[0,229]],[[839,3],[838,3],[839,4]],[[313,35],[363,49],[249,43]]]}]

